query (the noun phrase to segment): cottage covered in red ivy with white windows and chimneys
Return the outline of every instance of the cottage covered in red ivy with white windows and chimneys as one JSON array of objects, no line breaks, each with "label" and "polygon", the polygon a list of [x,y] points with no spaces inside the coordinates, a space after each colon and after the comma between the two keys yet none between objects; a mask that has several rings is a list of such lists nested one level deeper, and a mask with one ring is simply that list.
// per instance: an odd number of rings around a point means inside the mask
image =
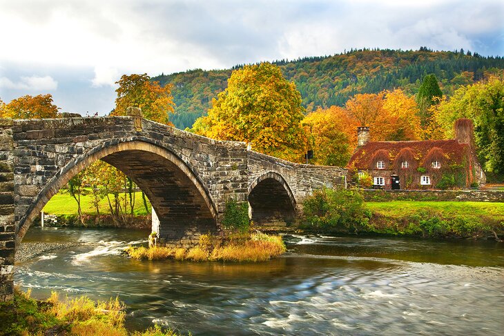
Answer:
[{"label": "cottage covered in red ivy with white windows and chimneys", "polygon": [[369,127],[358,128],[358,147],[348,167],[353,183],[366,175],[373,188],[451,189],[484,186],[485,172],[474,148],[473,123],[455,122],[455,139],[369,141]]}]

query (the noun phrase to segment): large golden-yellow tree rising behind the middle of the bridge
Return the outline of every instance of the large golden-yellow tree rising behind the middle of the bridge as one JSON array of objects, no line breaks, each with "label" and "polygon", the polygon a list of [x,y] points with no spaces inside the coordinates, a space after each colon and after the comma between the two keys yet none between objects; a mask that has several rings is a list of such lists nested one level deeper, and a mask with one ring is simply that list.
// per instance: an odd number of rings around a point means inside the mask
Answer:
[{"label": "large golden-yellow tree rising behind the middle of the bridge", "polygon": [[299,158],[304,108],[294,83],[271,63],[235,70],[228,87],[212,101],[191,131],[221,140],[252,142],[253,148],[284,159]]}]

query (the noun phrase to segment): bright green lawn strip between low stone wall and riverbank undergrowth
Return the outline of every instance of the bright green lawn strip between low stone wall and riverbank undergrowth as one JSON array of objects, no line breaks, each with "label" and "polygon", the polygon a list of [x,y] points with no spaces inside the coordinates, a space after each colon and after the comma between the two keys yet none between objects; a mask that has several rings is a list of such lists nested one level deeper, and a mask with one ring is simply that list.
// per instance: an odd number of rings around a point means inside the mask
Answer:
[{"label": "bright green lawn strip between low stone wall and riverbank undergrowth", "polygon": [[494,217],[504,221],[504,203],[462,201],[388,201],[365,202],[369,210],[391,216],[414,215],[419,211],[438,212],[446,217]]}]

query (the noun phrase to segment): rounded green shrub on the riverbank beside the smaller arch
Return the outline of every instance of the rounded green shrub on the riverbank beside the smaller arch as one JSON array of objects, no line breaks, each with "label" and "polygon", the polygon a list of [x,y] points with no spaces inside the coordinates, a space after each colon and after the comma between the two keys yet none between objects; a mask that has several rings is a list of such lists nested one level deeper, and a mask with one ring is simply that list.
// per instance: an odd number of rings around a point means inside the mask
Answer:
[{"label": "rounded green shrub on the riverbank beside the smaller arch", "polygon": [[347,189],[322,189],[303,202],[306,221],[326,229],[358,231],[369,222],[360,192]]}]

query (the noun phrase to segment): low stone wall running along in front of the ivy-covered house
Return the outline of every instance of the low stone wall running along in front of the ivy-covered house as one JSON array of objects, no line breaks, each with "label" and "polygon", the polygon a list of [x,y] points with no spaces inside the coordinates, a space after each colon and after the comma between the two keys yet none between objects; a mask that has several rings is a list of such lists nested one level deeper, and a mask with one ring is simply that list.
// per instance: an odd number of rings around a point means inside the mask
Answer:
[{"label": "low stone wall running along in front of the ivy-covered house", "polygon": [[362,190],[365,201],[477,201],[504,202],[494,190]]}]

